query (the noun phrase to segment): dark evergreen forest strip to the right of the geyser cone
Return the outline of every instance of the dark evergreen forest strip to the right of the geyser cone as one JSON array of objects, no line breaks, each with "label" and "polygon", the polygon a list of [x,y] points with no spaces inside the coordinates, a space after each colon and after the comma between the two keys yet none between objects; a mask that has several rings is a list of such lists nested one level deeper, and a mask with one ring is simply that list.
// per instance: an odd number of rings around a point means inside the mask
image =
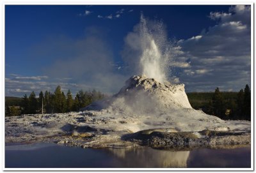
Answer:
[{"label": "dark evergreen forest strip to the right of the geyser cone", "polygon": [[[251,120],[251,91],[246,85],[238,93],[221,92],[217,87],[214,93],[189,93],[188,98],[194,109],[202,109],[206,114],[218,116],[221,119]],[[205,99],[207,98],[207,99]]]}]

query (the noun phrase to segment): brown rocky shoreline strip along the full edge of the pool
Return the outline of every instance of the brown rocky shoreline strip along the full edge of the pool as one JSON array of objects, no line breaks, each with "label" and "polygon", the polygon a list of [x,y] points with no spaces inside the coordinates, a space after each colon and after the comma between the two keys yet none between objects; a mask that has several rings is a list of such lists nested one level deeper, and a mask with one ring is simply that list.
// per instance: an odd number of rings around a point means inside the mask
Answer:
[{"label": "brown rocky shoreline strip along the full edge of the pool", "polygon": [[[148,130],[147,130],[148,131]],[[61,146],[82,147],[82,148],[143,148],[151,147],[168,151],[184,151],[201,148],[228,149],[243,146],[250,146],[250,132],[214,132],[204,130],[202,132],[157,132],[145,130],[129,133],[116,138],[111,135],[95,135],[93,137],[80,137],[77,135],[54,135],[37,140],[24,142],[5,142],[5,146],[36,144],[40,142],[58,144]]]}]

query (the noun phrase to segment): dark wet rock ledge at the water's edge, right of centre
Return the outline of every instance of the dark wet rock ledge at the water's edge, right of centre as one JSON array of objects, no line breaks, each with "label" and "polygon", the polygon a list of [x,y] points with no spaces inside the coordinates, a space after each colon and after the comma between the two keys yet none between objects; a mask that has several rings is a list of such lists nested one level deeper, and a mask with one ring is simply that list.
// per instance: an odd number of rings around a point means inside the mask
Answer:
[{"label": "dark wet rock ledge at the water's edge, right of centre", "polygon": [[[158,149],[193,149],[196,147],[225,147],[250,144],[250,132],[160,132],[163,130],[143,130],[124,135],[123,139],[136,142],[142,146]],[[151,133],[145,133],[151,132]]]}]

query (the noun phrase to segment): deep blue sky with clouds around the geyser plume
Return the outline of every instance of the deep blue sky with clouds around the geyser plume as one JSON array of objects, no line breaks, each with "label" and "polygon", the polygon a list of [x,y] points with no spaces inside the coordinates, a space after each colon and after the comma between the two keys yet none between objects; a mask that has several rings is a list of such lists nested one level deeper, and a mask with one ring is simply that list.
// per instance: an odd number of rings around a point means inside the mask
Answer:
[{"label": "deep blue sky with clouds around the geyser plume", "polygon": [[[5,94],[97,89],[116,93],[125,38],[141,12],[161,20],[179,54],[173,78],[186,91],[238,91],[250,84],[250,6],[5,6]],[[129,68],[129,67],[128,67]]]}]

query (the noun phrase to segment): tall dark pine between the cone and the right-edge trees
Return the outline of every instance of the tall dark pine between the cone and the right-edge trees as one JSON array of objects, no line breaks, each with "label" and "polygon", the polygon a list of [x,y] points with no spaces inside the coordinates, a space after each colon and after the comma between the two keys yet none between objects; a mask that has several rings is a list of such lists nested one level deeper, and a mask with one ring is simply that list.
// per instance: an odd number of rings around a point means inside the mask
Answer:
[{"label": "tall dark pine between the cone and the right-edge trees", "polygon": [[214,116],[224,117],[225,115],[224,99],[218,87],[215,89],[214,95],[212,97],[212,107],[213,107]]}]

